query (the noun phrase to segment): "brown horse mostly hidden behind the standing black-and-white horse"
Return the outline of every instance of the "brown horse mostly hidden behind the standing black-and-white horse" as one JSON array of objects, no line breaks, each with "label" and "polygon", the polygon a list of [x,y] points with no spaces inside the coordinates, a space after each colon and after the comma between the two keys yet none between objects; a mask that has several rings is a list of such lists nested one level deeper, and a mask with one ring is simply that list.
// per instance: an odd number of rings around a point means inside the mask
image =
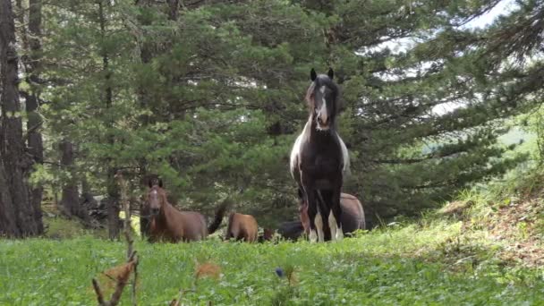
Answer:
[{"label": "brown horse mostly hidden behind the standing black-and-white horse", "polygon": [[[310,218],[308,217],[308,204],[303,201],[303,194],[299,191],[299,213],[306,234],[310,233]],[[342,230],[344,234],[353,233],[358,229],[365,229],[364,210],[361,201],[348,193],[341,193],[340,206],[342,207]]]}]

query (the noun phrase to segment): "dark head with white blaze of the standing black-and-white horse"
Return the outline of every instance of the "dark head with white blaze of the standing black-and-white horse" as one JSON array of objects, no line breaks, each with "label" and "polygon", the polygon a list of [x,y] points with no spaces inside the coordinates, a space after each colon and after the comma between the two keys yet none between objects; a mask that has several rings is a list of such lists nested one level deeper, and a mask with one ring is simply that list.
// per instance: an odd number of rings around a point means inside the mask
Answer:
[{"label": "dark head with white blaze of the standing black-and-white horse", "polygon": [[310,106],[310,117],[316,120],[319,131],[327,131],[334,126],[336,114],[340,110],[338,86],[333,81],[335,72],[329,69],[327,74],[310,72],[311,85],[306,92],[306,101]]}]

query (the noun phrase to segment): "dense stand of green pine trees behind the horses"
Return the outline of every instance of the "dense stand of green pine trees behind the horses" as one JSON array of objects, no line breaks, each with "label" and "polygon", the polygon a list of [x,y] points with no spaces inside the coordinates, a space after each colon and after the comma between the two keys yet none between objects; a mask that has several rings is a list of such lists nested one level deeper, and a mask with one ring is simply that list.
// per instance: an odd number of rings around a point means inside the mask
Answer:
[{"label": "dense stand of green pine trees behind the horses", "polygon": [[[70,141],[63,181],[114,204],[123,169],[134,190],[160,175],[183,208],[210,214],[231,197],[259,220],[292,218],[288,156],[312,67],[335,69],[352,157],[344,191],[370,216],[415,214],[523,161],[504,157],[513,148],[497,136],[539,97],[540,62],[508,64],[538,52],[538,1],[484,30],[463,25],[496,0],[99,4],[43,4],[39,76],[47,158]],[[396,39],[412,42],[381,47]]]}]

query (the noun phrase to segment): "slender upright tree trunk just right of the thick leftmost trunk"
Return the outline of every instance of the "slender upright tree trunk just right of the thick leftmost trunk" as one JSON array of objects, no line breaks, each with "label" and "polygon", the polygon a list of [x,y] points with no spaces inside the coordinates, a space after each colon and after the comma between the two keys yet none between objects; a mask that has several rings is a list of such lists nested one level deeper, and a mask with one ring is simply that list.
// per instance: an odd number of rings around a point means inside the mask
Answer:
[{"label": "slender upright tree trunk just right of the thick leftmost trunk", "polygon": [[[29,139],[29,153],[34,157],[34,162],[41,165],[44,162],[44,144],[41,137],[40,128],[42,125],[41,116],[38,114],[39,107],[39,69],[41,53],[41,0],[30,0],[29,9],[29,32],[30,32],[30,64],[27,67],[31,92],[26,98],[27,112],[29,120],[27,122],[27,131]],[[41,185],[33,186],[31,191],[32,206],[41,214],[41,200],[43,197],[43,188]]]}]

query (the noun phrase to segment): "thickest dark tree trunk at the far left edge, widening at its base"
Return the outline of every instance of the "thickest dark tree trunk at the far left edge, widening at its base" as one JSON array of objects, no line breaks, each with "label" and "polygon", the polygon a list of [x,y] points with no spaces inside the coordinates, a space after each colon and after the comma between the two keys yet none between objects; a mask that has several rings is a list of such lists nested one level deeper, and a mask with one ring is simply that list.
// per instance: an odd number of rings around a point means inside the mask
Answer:
[{"label": "thickest dark tree trunk at the far left edge, widening at its base", "polygon": [[[32,205],[28,174],[32,160],[22,139],[21,103],[19,100],[18,57],[15,49],[15,25],[12,2],[0,2],[0,75],[2,80],[2,126],[0,127],[0,169],[3,217],[14,217],[16,226],[3,228],[3,234],[27,236],[41,234],[43,225],[39,209]],[[9,174],[9,176],[7,175]],[[4,180],[8,178],[7,180]],[[5,202],[4,202],[5,200]],[[0,225],[3,226],[3,225]],[[15,229],[17,228],[17,229]]]}]

